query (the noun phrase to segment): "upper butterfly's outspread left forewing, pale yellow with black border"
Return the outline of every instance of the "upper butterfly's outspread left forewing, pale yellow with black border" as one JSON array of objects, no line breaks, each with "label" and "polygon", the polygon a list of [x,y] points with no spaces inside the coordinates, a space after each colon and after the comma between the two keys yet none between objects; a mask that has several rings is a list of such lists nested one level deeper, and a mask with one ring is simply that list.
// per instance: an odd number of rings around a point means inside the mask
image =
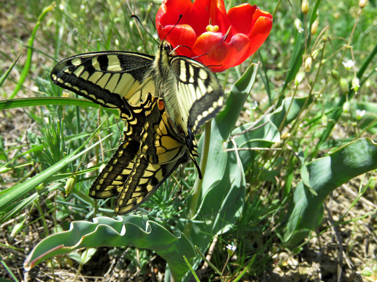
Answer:
[{"label": "upper butterfly's outspread left forewing, pale yellow with black border", "polygon": [[[145,79],[154,56],[131,52],[94,52],[61,61],[51,72],[52,81],[106,107],[119,109],[127,118],[125,98],[132,105],[155,93],[154,84]],[[143,87],[140,87],[143,85]]]}]

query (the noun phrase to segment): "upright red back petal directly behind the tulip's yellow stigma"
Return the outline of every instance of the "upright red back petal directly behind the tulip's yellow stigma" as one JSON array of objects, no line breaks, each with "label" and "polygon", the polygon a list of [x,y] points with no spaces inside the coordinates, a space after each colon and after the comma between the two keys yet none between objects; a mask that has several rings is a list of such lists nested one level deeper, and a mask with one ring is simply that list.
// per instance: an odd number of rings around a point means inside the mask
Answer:
[{"label": "upright red back petal directly behind the tulip's yellow stigma", "polygon": [[205,28],[208,26],[210,19],[213,26],[219,26],[219,32],[223,34],[227,32],[229,21],[225,11],[224,1],[195,1],[190,14],[190,26],[193,27],[198,36],[207,31]]}]

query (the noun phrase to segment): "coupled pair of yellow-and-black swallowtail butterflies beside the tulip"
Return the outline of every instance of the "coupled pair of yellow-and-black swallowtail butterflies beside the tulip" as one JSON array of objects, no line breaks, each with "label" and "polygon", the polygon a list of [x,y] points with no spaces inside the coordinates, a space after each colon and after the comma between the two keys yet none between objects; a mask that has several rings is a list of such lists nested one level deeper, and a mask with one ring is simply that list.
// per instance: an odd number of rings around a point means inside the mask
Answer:
[{"label": "coupled pair of yellow-and-black swallowtail butterflies beside the tulip", "polygon": [[221,110],[224,92],[208,68],[172,50],[164,41],[155,56],[86,53],[51,72],[55,84],[118,109],[127,122],[123,142],[89,191],[96,199],[118,195],[116,214],[141,205],[188,156],[201,178],[195,133]]}]

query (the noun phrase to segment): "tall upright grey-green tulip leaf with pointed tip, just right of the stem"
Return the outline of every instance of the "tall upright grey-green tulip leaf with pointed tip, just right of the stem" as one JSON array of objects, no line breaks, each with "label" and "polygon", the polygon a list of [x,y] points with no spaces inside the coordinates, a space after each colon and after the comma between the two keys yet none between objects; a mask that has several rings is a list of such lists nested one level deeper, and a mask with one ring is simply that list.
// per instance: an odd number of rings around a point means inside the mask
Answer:
[{"label": "tall upright grey-green tulip leaf with pointed tip, just right of the stem", "polygon": [[[203,176],[201,198],[190,240],[206,249],[213,235],[232,228],[241,215],[245,199],[245,175],[242,163],[234,152],[226,152],[226,141],[234,129],[249,92],[254,84],[259,64],[248,67],[234,83],[225,102],[225,108],[211,123],[210,150]],[[201,154],[203,136],[199,140]],[[179,222],[181,230],[184,223]],[[200,259],[193,263],[196,268]]]}]

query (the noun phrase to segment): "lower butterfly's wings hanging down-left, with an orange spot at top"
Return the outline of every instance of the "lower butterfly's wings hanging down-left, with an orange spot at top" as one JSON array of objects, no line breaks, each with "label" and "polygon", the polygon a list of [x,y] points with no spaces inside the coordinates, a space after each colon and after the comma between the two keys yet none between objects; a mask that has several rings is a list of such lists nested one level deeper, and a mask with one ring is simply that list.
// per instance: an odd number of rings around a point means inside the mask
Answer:
[{"label": "lower butterfly's wings hanging down-left, with an orange spot at top", "polygon": [[[152,99],[149,94],[143,107],[128,107],[132,117],[144,121],[128,124],[129,127],[142,124],[139,140],[121,144],[89,192],[91,197],[99,199],[119,194],[114,205],[118,215],[141,205],[181,162],[187,161],[184,137],[174,132],[161,99]],[[125,136],[127,132],[138,131],[139,128],[126,130]]]}]

